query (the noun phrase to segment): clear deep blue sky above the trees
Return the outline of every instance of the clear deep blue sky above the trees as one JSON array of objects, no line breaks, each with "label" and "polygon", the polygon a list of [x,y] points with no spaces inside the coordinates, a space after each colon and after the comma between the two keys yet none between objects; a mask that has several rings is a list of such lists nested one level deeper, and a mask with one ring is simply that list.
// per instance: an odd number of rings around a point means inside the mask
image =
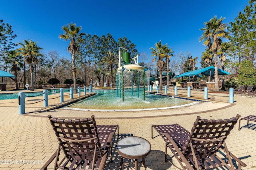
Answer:
[{"label": "clear deep blue sky above the trees", "polygon": [[234,21],[248,0],[6,0],[1,2],[0,19],[12,25],[17,37],[38,41],[48,51],[70,59],[68,41],[58,38],[68,23],[82,26],[84,33],[110,33],[127,37],[150,59],[150,47],[159,40],[168,43],[174,55],[180,51],[199,57],[205,47],[198,39],[204,22],[214,16]]}]

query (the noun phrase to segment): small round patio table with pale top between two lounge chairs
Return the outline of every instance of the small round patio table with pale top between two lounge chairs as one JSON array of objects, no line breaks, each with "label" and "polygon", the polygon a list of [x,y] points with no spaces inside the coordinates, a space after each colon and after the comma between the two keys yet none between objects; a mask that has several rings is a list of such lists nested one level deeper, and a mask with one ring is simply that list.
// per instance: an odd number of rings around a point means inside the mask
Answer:
[{"label": "small round patio table with pale top between two lounge chairs", "polygon": [[[151,151],[150,143],[142,138],[142,137],[125,137],[122,138],[117,143],[117,152],[121,156],[121,162],[119,169],[122,169],[122,164],[127,165],[123,162],[123,158],[134,159],[135,160],[135,170],[138,170],[138,166],[143,163],[144,168],[146,168],[145,164],[145,156],[147,156]],[[138,159],[142,158],[142,161],[138,164]]]}]

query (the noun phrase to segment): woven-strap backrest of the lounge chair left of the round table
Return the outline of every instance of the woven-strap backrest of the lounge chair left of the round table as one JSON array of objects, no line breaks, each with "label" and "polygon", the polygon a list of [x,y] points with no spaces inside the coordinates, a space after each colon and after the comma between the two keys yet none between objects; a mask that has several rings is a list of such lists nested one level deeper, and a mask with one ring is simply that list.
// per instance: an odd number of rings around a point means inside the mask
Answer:
[{"label": "woven-strap backrest of the lounge chair left of the round table", "polygon": [[[86,119],[57,119],[48,115],[50,123],[61,143],[66,157],[91,161],[97,147],[96,159],[102,156],[102,149],[97,132],[97,126],[92,115]],[[68,140],[64,140],[68,139]],[[97,146],[96,146],[97,145]]]}]

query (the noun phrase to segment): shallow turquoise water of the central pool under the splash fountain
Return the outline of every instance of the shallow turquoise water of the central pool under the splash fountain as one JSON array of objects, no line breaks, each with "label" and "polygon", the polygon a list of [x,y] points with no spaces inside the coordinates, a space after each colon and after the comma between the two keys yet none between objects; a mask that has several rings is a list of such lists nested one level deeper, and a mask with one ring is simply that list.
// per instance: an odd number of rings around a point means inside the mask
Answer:
[{"label": "shallow turquoise water of the central pool under the splash fountain", "polygon": [[[137,95],[137,89],[126,89],[124,93],[124,102],[122,96],[116,96],[116,90],[92,90],[97,94],[80,102],[71,104],[66,109],[91,110],[91,111],[108,111],[108,110],[129,110],[129,109],[150,109],[166,108],[191,104],[194,101],[170,98],[146,93],[145,101],[143,100],[143,89]],[[119,92],[118,92],[119,95]]]}]

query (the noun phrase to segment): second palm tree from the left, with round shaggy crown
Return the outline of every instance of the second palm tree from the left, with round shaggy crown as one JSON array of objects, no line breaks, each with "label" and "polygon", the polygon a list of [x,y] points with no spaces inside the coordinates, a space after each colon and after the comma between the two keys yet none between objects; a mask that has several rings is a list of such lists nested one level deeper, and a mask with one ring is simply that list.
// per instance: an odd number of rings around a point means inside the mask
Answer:
[{"label": "second palm tree from the left, with round shaggy crown", "polygon": [[[23,43],[18,43],[20,45],[22,45],[22,47],[20,47],[19,49],[17,49],[17,55],[22,55],[24,56],[24,61],[27,62],[28,64],[30,64],[30,90],[34,91],[34,63],[36,61],[38,61],[38,59],[36,57],[38,56],[43,56],[42,54],[39,53],[39,51],[42,49],[41,47],[39,47],[37,44],[37,42],[32,41],[32,39],[29,40],[24,40],[24,44]],[[24,74],[25,76],[25,74]],[[26,82],[24,82],[26,83]]]}]

